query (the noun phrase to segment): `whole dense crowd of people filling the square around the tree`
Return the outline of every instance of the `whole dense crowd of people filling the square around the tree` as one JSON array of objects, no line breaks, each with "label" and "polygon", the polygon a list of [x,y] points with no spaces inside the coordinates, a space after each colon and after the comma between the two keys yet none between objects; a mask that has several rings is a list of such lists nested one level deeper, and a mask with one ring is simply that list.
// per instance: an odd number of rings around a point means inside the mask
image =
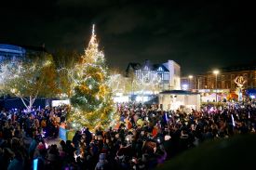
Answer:
[{"label": "whole dense crowd of people filling the square around the tree", "polygon": [[116,108],[120,120],[114,127],[93,133],[84,127],[66,141],[58,140],[66,106],[1,111],[1,169],[154,169],[205,140],[255,133],[256,128],[253,101],[189,113],[140,103]]}]

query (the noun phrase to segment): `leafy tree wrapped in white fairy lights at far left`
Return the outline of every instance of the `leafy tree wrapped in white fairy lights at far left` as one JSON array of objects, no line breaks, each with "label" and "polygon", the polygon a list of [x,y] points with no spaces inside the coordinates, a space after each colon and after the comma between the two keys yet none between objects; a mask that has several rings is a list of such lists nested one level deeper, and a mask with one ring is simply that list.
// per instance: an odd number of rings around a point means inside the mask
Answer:
[{"label": "leafy tree wrapped in white fairy lights at far left", "polygon": [[[38,95],[51,96],[51,92],[55,90],[54,80],[50,80],[48,83],[44,79],[45,76],[48,76],[48,72],[54,71],[51,64],[52,58],[50,56],[46,56],[40,61],[1,63],[0,84],[3,91],[20,98],[24,107],[30,110]],[[52,72],[49,78],[54,79],[54,76],[55,74]],[[51,90],[48,90],[46,86],[50,86]]]}]

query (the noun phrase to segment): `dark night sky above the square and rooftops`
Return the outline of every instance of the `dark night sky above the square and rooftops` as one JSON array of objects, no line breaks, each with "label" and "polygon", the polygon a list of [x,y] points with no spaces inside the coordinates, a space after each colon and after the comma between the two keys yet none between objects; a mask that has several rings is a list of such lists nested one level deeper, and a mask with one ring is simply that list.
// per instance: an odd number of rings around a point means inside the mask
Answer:
[{"label": "dark night sky above the square and rooftops", "polygon": [[82,52],[95,23],[110,67],[122,71],[145,59],[175,60],[183,75],[256,63],[255,7],[222,1],[8,0],[0,42]]}]

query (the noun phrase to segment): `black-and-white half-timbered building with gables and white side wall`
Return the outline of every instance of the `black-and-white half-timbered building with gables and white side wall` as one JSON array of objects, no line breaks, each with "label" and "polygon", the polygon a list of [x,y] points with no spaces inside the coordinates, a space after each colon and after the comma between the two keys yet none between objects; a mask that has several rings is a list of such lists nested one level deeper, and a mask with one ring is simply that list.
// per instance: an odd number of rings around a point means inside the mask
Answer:
[{"label": "black-and-white half-timbered building with gables and white side wall", "polygon": [[180,65],[173,60],[163,64],[152,64],[145,60],[143,64],[129,63],[126,75],[130,78],[139,80],[141,84],[157,84],[159,89],[181,89]]}]

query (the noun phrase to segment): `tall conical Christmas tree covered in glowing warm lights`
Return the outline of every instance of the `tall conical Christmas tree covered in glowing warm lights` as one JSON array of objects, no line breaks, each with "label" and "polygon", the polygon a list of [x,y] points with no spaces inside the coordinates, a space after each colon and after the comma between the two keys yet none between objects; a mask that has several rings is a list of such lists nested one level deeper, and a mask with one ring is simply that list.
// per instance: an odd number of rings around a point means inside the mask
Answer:
[{"label": "tall conical Christmas tree covered in glowing warm lights", "polygon": [[107,84],[108,69],[104,55],[94,33],[81,61],[75,66],[74,91],[71,98],[72,111],[68,121],[74,127],[97,128],[110,125],[113,118],[113,99]]}]

